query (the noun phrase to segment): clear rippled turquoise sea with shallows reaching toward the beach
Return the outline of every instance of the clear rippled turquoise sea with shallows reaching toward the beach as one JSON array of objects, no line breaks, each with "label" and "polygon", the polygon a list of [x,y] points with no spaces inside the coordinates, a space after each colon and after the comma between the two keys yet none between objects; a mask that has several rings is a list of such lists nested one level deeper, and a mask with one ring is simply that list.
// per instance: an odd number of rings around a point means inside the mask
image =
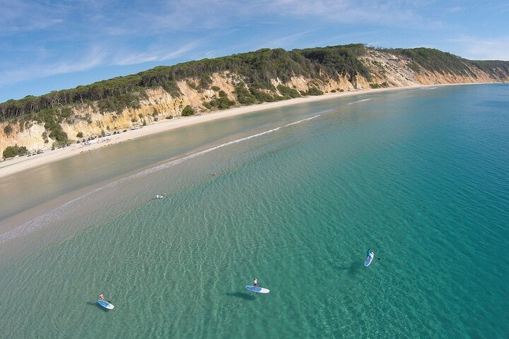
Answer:
[{"label": "clear rippled turquoise sea with shallows reaching toward the beach", "polygon": [[[508,85],[226,126],[112,146],[103,177],[42,186],[110,182],[1,239],[0,337],[508,338]],[[115,165],[122,147],[139,162]]]}]

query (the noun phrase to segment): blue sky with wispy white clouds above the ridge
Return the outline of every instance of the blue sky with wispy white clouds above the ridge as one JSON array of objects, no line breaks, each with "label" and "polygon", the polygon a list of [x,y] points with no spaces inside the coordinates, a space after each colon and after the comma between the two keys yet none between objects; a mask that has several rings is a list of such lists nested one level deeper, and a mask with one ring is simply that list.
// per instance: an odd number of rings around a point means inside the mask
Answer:
[{"label": "blue sky with wispy white clouds above the ridge", "polygon": [[509,1],[0,0],[0,102],[264,47],[509,60]]}]

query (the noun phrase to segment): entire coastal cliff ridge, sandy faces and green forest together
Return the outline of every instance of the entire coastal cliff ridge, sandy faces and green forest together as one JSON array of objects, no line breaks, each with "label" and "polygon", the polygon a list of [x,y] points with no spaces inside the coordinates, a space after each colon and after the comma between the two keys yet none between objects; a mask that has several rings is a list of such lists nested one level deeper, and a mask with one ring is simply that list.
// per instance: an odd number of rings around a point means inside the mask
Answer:
[{"label": "entire coastal cliff ridge, sandy faces and green forest together", "polygon": [[18,150],[21,155],[161,119],[306,95],[502,82],[509,82],[509,61],[469,61],[435,49],[361,44],[262,49],[4,102],[0,154]]}]

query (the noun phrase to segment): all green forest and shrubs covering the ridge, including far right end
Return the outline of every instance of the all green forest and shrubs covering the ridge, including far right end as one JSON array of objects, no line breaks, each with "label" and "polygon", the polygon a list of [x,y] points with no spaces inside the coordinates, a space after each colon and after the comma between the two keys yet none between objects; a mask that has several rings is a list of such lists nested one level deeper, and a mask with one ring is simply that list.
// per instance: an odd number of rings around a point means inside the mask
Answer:
[{"label": "all green forest and shrubs covering the ridge, including far right end", "polygon": [[[345,76],[350,81],[361,75],[370,81],[370,71],[361,61],[370,47],[364,44],[347,44],[333,47],[310,49],[259,49],[256,52],[233,54],[228,57],[189,61],[174,66],[158,66],[129,76],[120,76],[110,80],[99,81],[90,85],[81,85],[73,89],[58,90],[45,95],[28,95],[21,100],[8,100],[0,104],[0,120],[34,119],[47,124],[58,124],[59,121],[48,121],[51,112],[58,112],[59,117],[69,114],[69,107],[74,105],[97,104],[101,112],[119,112],[126,107],[139,107],[140,100],[146,97],[149,88],[161,87],[173,97],[181,95],[177,81],[199,79],[198,90],[209,88],[211,74],[229,71],[240,76],[240,81],[247,86],[238,86],[235,95],[242,105],[254,102],[282,100],[300,94],[320,94],[312,88],[308,93],[297,93],[290,88],[278,88],[284,97],[268,95],[267,91],[276,91],[271,80],[279,78],[283,83],[292,76],[305,78],[333,78]],[[437,49],[381,49],[409,60],[409,67],[417,73],[428,70],[440,73],[472,75],[472,68],[479,69],[500,78],[509,76],[509,61],[469,61],[453,54],[440,52]],[[226,96],[207,102],[206,106],[224,108],[233,103]],[[49,111],[49,113],[48,113]],[[50,119],[51,120],[51,119]],[[59,120],[59,119],[57,119]]]}]

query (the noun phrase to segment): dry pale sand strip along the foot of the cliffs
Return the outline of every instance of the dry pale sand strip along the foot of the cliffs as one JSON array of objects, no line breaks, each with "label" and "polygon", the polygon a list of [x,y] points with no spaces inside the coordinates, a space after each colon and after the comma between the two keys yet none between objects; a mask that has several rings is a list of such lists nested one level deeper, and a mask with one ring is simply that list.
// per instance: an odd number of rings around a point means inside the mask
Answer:
[{"label": "dry pale sand strip along the foot of the cliffs", "polygon": [[[481,83],[472,83],[479,85]],[[208,121],[214,121],[218,119],[235,117],[241,114],[248,114],[252,112],[259,112],[266,109],[276,109],[279,107],[286,107],[290,105],[298,105],[308,102],[317,102],[322,100],[332,100],[339,97],[350,97],[354,95],[363,95],[367,93],[380,93],[393,90],[408,90],[416,88],[426,87],[437,87],[445,85],[467,85],[465,83],[452,83],[452,84],[440,84],[440,85],[412,85],[406,87],[391,87],[391,88],[370,88],[366,90],[355,90],[351,92],[341,93],[325,93],[324,95],[308,96],[308,97],[296,97],[293,99],[278,101],[278,102],[264,102],[262,104],[233,107],[222,111],[210,112],[203,115],[195,115],[192,117],[175,117],[170,120],[156,121],[151,124],[143,126],[141,129],[127,130],[127,132],[113,134],[105,138],[98,139],[98,143],[93,145],[84,145],[83,143],[73,143],[66,148],[57,148],[55,150],[47,150],[43,154],[33,155],[27,157],[23,155],[21,157],[14,157],[0,162],[0,179],[5,179],[11,175],[23,172],[28,169],[33,169],[42,165],[47,165],[52,162],[66,159],[68,157],[74,157],[81,153],[91,152],[103,147],[115,145],[125,141],[134,140],[144,136],[152,134],[163,133],[165,131],[171,131],[173,129],[179,129],[185,126],[191,126],[194,124],[202,124]]]}]

